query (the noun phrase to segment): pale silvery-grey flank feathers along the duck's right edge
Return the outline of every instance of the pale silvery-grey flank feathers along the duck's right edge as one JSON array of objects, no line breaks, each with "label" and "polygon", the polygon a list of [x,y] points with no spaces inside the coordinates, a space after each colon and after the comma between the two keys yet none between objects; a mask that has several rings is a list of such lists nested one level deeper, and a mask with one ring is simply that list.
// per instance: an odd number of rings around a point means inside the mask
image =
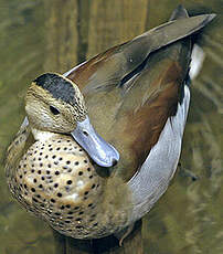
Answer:
[{"label": "pale silvery-grey flank feathers along the duck's right edge", "polygon": [[151,149],[139,172],[128,182],[134,203],[131,221],[137,221],[153,207],[176,172],[189,103],[190,91],[185,85],[183,103],[178,105],[177,115],[167,120],[159,141]]}]

